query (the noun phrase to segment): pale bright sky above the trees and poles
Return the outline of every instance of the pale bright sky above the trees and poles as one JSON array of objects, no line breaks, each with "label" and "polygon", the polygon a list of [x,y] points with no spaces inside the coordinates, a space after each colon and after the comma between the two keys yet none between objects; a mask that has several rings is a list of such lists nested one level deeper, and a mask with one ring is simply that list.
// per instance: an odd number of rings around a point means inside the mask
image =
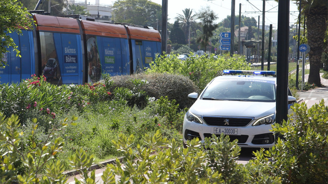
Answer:
[{"label": "pale bright sky above the trees and poles", "polygon": [[[87,0],[90,4],[95,4],[95,0]],[[159,5],[162,0],[150,0]],[[112,5],[115,0],[99,0],[100,4]],[[239,4],[241,3],[241,15],[254,17],[262,25],[262,0],[235,0],[235,15],[239,15]],[[168,18],[170,23],[174,23],[177,14],[183,14],[182,10],[190,8],[193,12],[198,12],[201,8],[210,8],[217,14],[216,23],[221,22],[228,15],[231,15],[231,0],[168,0]],[[278,3],[274,0],[265,1],[265,25],[272,24],[273,29],[278,23]],[[290,25],[297,22],[298,10],[294,1],[290,1]]]}]

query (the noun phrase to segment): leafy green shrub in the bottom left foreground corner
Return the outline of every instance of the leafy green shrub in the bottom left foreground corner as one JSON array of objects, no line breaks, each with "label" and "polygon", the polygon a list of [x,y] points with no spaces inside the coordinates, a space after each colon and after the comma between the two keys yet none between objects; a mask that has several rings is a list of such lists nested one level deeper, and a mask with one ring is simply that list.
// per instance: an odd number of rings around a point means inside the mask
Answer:
[{"label": "leafy green shrub in the bottom left foreground corner", "polygon": [[[62,174],[64,171],[60,164],[50,163],[58,152],[63,151],[64,141],[61,137],[56,137],[57,132],[67,127],[77,118],[72,117],[71,121],[65,118],[60,124],[52,125],[48,136],[44,141],[38,141],[35,131],[37,130],[37,120],[33,119],[32,131],[28,132],[30,147],[20,147],[21,136],[19,132],[19,120],[17,115],[9,118],[0,114],[0,181],[1,183],[65,183],[66,177]],[[23,173],[19,173],[16,168],[16,162],[21,161]],[[46,173],[49,177],[39,178],[39,174],[46,167]]]}]

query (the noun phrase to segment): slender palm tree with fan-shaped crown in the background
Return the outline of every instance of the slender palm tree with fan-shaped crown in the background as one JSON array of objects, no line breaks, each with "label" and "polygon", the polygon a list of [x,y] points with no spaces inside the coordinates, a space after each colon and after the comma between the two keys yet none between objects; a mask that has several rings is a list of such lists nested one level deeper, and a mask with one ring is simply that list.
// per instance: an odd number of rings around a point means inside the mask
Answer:
[{"label": "slender palm tree with fan-shaped crown in the background", "polygon": [[178,16],[175,17],[175,19],[179,22],[182,22],[182,28],[186,27],[186,38],[188,38],[188,46],[190,47],[190,29],[191,25],[195,23],[195,19],[197,18],[197,15],[193,13],[193,10],[190,8],[186,8],[185,10],[182,10],[183,14],[178,14]]}]

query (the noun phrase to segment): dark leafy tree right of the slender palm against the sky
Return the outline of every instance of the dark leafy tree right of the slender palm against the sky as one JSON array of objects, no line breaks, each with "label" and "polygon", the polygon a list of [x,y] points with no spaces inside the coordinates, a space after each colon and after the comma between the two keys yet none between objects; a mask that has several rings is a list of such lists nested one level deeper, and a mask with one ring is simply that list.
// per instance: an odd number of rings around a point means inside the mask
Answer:
[{"label": "dark leafy tree right of the slender palm against the sky", "polygon": [[201,21],[203,33],[197,38],[197,43],[200,43],[200,45],[205,48],[206,52],[206,46],[213,36],[213,31],[218,27],[218,25],[214,23],[218,16],[208,6],[199,11],[198,18]]}]

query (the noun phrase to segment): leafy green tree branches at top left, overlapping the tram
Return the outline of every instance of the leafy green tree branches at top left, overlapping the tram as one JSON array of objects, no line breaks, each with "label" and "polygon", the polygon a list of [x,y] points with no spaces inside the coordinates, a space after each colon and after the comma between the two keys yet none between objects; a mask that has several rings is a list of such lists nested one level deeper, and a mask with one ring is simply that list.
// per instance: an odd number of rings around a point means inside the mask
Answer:
[{"label": "leafy green tree branches at top left, overlapping the tram", "polygon": [[[17,0],[0,0],[0,55],[8,52],[7,48],[12,47],[17,55],[19,51],[14,40],[7,34],[17,32],[21,34],[20,28],[32,28],[33,19],[29,17],[26,8]],[[6,61],[0,57],[0,67],[4,67]]]}]

